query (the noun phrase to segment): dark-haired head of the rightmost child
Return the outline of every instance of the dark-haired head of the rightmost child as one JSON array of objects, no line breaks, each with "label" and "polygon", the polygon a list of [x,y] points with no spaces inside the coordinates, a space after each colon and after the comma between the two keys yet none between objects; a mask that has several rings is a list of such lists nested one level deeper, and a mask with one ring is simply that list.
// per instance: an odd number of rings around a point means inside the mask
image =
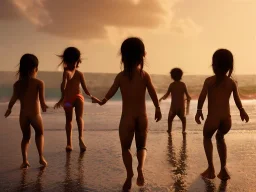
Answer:
[{"label": "dark-haired head of the rightmost child", "polygon": [[231,77],[234,67],[232,53],[227,49],[219,49],[212,56],[212,69],[215,75],[226,75]]}]

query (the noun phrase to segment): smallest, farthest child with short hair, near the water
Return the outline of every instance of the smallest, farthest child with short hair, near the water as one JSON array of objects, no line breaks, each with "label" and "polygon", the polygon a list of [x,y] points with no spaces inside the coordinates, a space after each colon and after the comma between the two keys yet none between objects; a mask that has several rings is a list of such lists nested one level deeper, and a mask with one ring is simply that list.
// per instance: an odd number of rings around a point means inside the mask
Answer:
[{"label": "smallest, farthest child with short hair, near the water", "polygon": [[[170,84],[167,93],[161,97],[159,102],[168,98],[171,93],[172,102],[171,108],[168,115],[168,133],[172,132],[172,121],[174,117],[177,115],[182,122],[182,133],[186,133],[186,116],[185,116],[185,102],[184,95],[187,97],[187,102],[189,105],[189,101],[191,97],[188,94],[186,84],[181,81],[183,71],[180,68],[174,68],[170,72],[171,78],[174,80],[173,83]],[[188,107],[187,107],[188,109]]]}]

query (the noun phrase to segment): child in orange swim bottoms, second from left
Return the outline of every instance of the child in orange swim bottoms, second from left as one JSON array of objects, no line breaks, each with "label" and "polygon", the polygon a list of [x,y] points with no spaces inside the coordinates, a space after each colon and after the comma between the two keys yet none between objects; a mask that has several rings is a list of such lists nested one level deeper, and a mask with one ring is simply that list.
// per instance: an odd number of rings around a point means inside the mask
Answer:
[{"label": "child in orange swim bottoms, second from left", "polygon": [[78,71],[77,68],[81,63],[80,51],[75,47],[68,47],[65,49],[60,65],[63,65],[63,80],[61,83],[61,99],[54,106],[54,108],[60,108],[63,106],[66,114],[66,134],[67,134],[67,147],[66,151],[72,151],[72,117],[73,117],[73,107],[75,107],[76,121],[79,133],[79,146],[80,152],[86,151],[86,146],[83,142],[83,112],[84,112],[84,97],[80,90],[80,84],[84,92],[91,97],[86,84],[84,75],[82,72]]}]

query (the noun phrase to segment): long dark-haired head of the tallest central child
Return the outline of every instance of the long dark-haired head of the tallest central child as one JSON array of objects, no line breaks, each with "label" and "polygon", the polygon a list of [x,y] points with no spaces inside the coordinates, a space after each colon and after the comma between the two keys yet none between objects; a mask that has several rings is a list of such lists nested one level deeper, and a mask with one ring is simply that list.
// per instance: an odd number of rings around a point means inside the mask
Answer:
[{"label": "long dark-haired head of the tallest central child", "polygon": [[141,66],[141,71],[144,66],[145,46],[141,39],[137,37],[127,38],[121,45],[122,63],[124,72],[132,78],[132,70]]}]

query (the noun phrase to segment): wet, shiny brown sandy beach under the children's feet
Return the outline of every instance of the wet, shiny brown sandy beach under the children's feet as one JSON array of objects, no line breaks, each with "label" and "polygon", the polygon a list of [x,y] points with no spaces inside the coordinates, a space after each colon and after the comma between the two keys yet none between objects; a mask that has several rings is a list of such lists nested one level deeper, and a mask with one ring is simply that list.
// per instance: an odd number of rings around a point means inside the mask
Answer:
[{"label": "wet, shiny brown sandy beach under the children's feet", "polygon": [[[196,101],[191,102],[187,116],[187,135],[181,134],[181,124],[174,121],[172,136],[166,133],[169,102],[161,104],[163,119],[153,121],[154,108],[148,103],[149,134],[148,156],[145,163],[146,185],[136,186],[132,191],[161,192],[254,192],[256,191],[256,101],[244,101],[250,115],[250,123],[240,121],[235,105],[231,103],[233,127],[226,137],[228,146],[228,169],[231,180],[221,183],[219,179],[202,180],[199,174],[207,166],[203,145],[202,125],[194,122]],[[120,102],[110,102],[105,107],[85,104],[85,143],[88,150],[79,153],[78,132],[74,122],[74,151],[65,152],[66,136],[63,111],[43,114],[45,125],[45,158],[49,166],[40,168],[32,132],[29,148],[31,167],[20,170],[21,131],[18,115],[19,105],[12,115],[4,119],[6,103],[0,104],[0,191],[121,191],[126,173],[122,163],[118,138]],[[49,103],[50,106],[53,103]],[[206,109],[206,106],[204,106]],[[206,115],[206,113],[205,113]],[[218,173],[220,163],[214,142],[214,165]],[[137,166],[136,149],[133,143],[134,171]]]}]

